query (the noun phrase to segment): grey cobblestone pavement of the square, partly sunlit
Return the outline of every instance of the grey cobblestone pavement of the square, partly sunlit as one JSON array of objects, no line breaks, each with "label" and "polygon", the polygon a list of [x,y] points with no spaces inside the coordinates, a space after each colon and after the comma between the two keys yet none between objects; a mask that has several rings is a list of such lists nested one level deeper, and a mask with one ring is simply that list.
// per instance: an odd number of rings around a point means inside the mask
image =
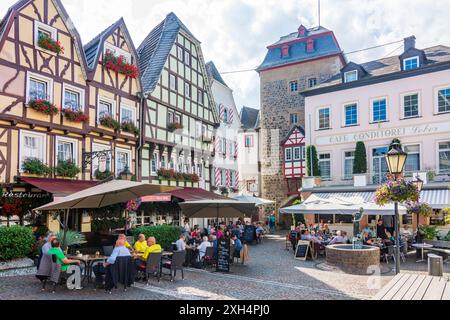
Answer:
[{"label": "grey cobblestone pavement of the square, partly sunlit", "polygon": [[[0,300],[370,299],[394,276],[392,271],[380,277],[325,271],[317,267],[323,260],[295,260],[292,249],[285,250],[282,236],[268,236],[263,244],[251,246],[250,258],[245,265],[233,265],[230,274],[188,269],[184,281],[180,278],[173,283],[167,278],[160,283],[150,280],[150,285],[137,283],[125,293],[119,290],[112,295],[90,287],[74,292],[59,288],[56,294],[42,293],[34,276],[0,278]],[[402,271],[422,273],[426,270],[426,263],[415,263],[415,255],[402,264]],[[445,272],[450,273],[448,265]]]}]

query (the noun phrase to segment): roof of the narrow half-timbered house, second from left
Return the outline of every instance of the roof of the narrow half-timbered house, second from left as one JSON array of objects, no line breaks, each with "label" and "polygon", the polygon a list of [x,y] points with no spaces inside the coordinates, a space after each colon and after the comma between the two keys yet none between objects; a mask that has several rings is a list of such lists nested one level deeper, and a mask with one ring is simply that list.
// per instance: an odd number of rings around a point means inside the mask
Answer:
[{"label": "roof of the narrow half-timbered house, second from left", "polygon": [[108,39],[108,37],[118,28],[120,28],[123,36],[125,37],[125,40],[130,48],[134,63],[136,64],[138,63],[138,55],[136,48],[134,47],[133,40],[131,39],[130,33],[128,32],[128,28],[125,24],[124,19],[120,18],[112,25],[110,25],[108,28],[100,32],[94,39],[89,41],[84,46],[86,63],[91,77],[95,74],[95,70],[98,66],[98,59],[100,58],[100,55],[103,52],[103,47],[106,39]]}]

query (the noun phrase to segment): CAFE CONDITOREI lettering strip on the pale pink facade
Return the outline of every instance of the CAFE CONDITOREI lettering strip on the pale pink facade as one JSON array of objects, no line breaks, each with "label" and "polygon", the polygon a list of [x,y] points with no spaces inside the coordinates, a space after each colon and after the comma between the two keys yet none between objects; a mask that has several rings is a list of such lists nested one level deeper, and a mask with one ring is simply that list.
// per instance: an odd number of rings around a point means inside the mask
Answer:
[{"label": "CAFE CONDITOREI lettering strip on the pale pink facade", "polygon": [[450,122],[429,123],[409,127],[394,127],[372,131],[338,134],[318,137],[316,145],[325,146],[331,144],[356,143],[358,141],[373,141],[381,139],[394,139],[401,137],[428,135],[450,132]]}]

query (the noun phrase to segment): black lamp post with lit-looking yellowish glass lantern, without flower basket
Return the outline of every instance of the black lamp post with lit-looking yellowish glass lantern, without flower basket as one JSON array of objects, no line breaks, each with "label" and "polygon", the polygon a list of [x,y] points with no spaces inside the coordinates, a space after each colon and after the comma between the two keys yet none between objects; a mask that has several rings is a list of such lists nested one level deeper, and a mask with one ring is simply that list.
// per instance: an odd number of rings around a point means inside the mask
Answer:
[{"label": "black lamp post with lit-looking yellowish glass lantern, without flower basket", "polygon": [[[402,150],[399,143],[394,143],[392,149],[386,155],[389,172],[394,176],[394,180],[400,177],[405,169],[408,154]],[[400,273],[400,215],[398,213],[398,202],[394,203],[395,208],[395,273]]]}]

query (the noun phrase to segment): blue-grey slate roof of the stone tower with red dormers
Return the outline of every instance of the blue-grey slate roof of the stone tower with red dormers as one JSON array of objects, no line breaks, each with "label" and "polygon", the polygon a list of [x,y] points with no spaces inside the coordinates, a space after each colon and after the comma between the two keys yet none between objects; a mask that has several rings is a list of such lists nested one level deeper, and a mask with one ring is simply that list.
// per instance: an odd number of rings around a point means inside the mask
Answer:
[{"label": "blue-grey slate roof of the stone tower with red dormers", "polygon": [[[306,39],[310,36],[314,36],[314,50],[307,52]],[[289,43],[289,55],[282,57],[281,47],[287,43]],[[286,64],[308,61],[335,54],[342,54],[342,50],[333,33],[324,27],[312,28],[307,30],[304,37],[300,37],[298,32],[294,32],[281,37],[279,41],[269,46],[263,63],[256,70],[260,72]]]}]

